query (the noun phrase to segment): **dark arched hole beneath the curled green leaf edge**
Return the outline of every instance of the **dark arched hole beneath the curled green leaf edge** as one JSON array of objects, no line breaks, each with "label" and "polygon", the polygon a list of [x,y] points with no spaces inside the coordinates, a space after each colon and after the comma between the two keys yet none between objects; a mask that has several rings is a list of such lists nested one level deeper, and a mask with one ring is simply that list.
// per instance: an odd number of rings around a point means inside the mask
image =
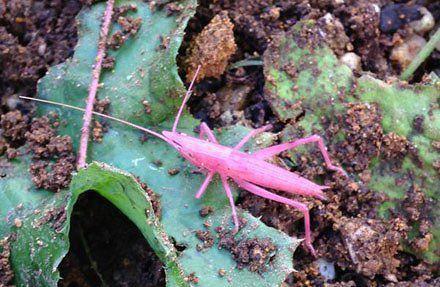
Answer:
[{"label": "dark arched hole beneath the curled green leaf edge", "polygon": [[75,204],[58,286],[165,286],[163,264],[137,227],[95,192]]}]

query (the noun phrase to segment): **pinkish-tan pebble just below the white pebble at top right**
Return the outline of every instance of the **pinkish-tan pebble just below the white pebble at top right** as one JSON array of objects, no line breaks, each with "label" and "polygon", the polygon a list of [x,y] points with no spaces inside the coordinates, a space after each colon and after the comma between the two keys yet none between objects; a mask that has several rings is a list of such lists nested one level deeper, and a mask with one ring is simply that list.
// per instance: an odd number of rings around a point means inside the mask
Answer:
[{"label": "pinkish-tan pebble just below the white pebble at top right", "polygon": [[405,69],[425,45],[426,40],[423,37],[412,35],[405,42],[393,48],[390,59]]}]

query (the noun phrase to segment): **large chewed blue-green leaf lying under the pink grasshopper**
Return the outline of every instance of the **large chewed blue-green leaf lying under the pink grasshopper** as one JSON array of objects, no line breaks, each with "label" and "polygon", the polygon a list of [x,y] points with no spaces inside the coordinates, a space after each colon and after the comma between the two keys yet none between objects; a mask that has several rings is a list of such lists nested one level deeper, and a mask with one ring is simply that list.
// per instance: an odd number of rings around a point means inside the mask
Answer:
[{"label": "large chewed blue-green leaf lying under the pink grasshopper", "polygon": [[[103,74],[98,97],[109,99],[110,113],[114,116],[148,127],[153,125],[151,128],[156,130],[169,129],[180,104],[179,95],[184,92],[175,57],[196,1],[180,1],[177,5],[182,9],[171,16],[161,9],[152,11],[144,1],[117,3],[135,4],[137,11],[130,12],[130,15],[141,17],[142,25],[119,50],[110,52],[116,64],[112,71]],[[103,10],[103,3],[98,3],[82,11],[78,18],[80,39],[74,56],[50,69],[40,81],[39,97],[84,106]],[[114,30],[118,28],[115,26]],[[160,39],[170,41],[163,43]],[[45,115],[49,111],[55,111],[62,119],[60,134],[69,135],[76,146],[82,113],[39,106],[39,114]],[[198,124],[185,115],[179,128],[187,134],[194,134]],[[5,163],[5,168],[13,172],[6,173],[8,177],[0,182],[0,194],[4,197],[0,206],[5,206],[1,208],[1,215],[8,218],[1,226],[1,235],[16,232],[16,241],[11,242],[11,262],[17,285],[56,285],[59,278],[57,266],[68,250],[72,208],[79,194],[86,190],[98,192],[134,222],[163,262],[168,286],[188,286],[196,281],[199,286],[278,286],[285,280],[293,270],[293,252],[300,240],[267,227],[239,210],[247,224],[234,240],[245,243],[261,241],[270,246],[265,260],[259,263],[259,272],[252,272],[249,268],[240,270],[234,261],[236,255],[227,248],[217,247],[220,235],[214,228],[228,230],[232,227],[229,202],[218,179],[213,181],[204,197],[197,200],[194,194],[203,175],[167,143],[146,138],[141,132],[118,123],[106,122],[105,125],[107,131],[102,143],[92,143],[88,155],[89,161],[102,164],[93,163],[81,170],[73,178],[70,190],[57,194],[35,190],[27,172],[26,156]],[[240,126],[224,129],[218,133],[219,141],[224,145],[236,144],[248,131]],[[263,136],[260,142],[269,143],[270,138]],[[250,145],[251,149],[255,147],[255,144]],[[138,177],[160,195],[160,220],[154,217],[148,197],[126,172]],[[23,212],[15,208],[22,202]],[[199,214],[205,206],[214,209],[206,218]],[[36,208],[43,213],[35,213]],[[65,221],[57,222],[56,230],[53,222],[44,222],[34,228],[34,222],[41,220],[42,214],[49,209],[65,212],[65,216],[61,214]],[[18,216],[22,222],[19,229],[13,226]],[[201,239],[197,233],[206,229],[213,234],[213,242],[211,247],[200,250]],[[37,237],[41,242],[36,240]],[[177,252],[171,241],[185,249]],[[225,270],[224,276],[219,275],[219,270]]]}]

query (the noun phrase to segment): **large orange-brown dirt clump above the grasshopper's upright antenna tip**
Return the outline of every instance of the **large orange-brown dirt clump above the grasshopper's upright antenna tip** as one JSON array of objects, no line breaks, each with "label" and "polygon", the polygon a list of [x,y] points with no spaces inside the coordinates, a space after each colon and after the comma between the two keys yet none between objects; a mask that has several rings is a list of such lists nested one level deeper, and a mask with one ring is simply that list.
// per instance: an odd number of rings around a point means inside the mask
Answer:
[{"label": "large orange-brown dirt clump above the grasshopper's upright antenna tip", "polygon": [[237,49],[233,28],[227,13],[219,13],[191,40],[184,60],[187,82],[194,78],[198,66],[201,68],[196,82],[208,77],[219,78],[225,72]]}]

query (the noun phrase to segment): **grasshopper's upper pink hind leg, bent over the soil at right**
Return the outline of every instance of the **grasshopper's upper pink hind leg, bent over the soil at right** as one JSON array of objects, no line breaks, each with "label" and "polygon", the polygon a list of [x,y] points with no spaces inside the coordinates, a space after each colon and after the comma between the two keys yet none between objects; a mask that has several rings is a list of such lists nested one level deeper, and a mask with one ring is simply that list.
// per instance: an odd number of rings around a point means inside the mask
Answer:
[{"label": "grasshopper's upper pink hind leg, bent over the soil at right", "polygon": [[337,172],[342,173],[343,175],[347,176],[347,173],[339,166],[335,166],[332,164],[330,160],[330,156],[327,152],[327,148],[324,145],[324,141],[322,138],[318,135],[313,135],[310,137],[298,139],[295,141],[271,146],[262,150],[259,150],[255,153],[253,153],[253,156],[259,158],[259,159],[268,159],[276,154],[279,154],[285,150],[294,149],[300,145],[308,144],[308,143],[317,143],[319,150],[321,151],[322,156],[324,157],[325,164],[327,165],[327,168],[330,170],[334,170]]}]

